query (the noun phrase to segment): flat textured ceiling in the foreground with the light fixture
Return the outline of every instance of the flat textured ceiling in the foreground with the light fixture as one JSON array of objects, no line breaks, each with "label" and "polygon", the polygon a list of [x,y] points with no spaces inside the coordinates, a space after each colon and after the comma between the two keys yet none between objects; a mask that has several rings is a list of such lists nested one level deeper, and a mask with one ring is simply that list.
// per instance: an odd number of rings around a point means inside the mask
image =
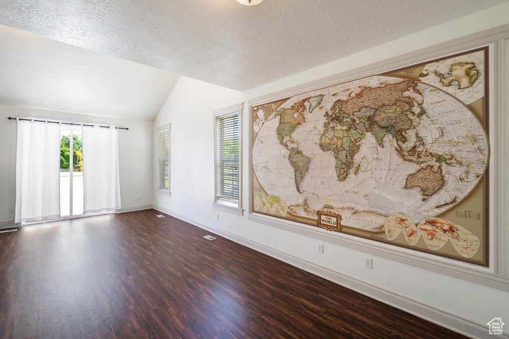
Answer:
[{"label": "flat textured ceiling in the foreground with the light fixture", "polygon": [[0,24],[246,90],[507,0],[0,0]]}]

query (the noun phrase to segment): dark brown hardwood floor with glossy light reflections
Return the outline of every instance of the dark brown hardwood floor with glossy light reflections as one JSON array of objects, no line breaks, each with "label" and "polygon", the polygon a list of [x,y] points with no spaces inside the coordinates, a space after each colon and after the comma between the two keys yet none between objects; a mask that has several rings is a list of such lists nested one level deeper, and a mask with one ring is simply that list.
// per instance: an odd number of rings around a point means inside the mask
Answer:
[{"label": "dark brown hardwood floor with glossy light reflections", "polygon": [[156,214],[0,234],[0,337],[462,337]]}]

